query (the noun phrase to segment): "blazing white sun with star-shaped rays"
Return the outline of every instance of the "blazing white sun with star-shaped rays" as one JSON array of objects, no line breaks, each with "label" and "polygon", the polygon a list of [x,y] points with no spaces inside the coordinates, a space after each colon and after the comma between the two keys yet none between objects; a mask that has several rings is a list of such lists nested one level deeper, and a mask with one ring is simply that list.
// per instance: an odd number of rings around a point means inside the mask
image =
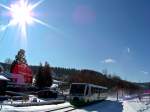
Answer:
[{"label": "blazing white sun with star-shaped rays", "polygon": [[2,30],[5,30],[9,26],[18,26],[21,31],[21,37],[27,38],[27,26],[36,22],[44,26],[49,26],[43,21],[34,17],[33,9],[39,6],[44,0],[40,0],[35,4],[30,4],[28,0],[18,0],[16,3],[6,6],[0,4],[1,7],[8,10],[11,17],[9,23],[3,26]]}]

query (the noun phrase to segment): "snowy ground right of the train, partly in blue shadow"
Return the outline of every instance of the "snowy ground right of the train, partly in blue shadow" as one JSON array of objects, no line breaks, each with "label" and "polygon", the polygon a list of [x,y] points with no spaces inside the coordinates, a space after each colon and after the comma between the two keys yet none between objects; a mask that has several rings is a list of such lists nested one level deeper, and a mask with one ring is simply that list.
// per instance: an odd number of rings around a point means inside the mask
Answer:
[{"label": "snowy ground right of the train, partly in blue shadow", "polygon": [[138,99],[129,101],[106,100],[72,112],[150,112],[150,104]]}]

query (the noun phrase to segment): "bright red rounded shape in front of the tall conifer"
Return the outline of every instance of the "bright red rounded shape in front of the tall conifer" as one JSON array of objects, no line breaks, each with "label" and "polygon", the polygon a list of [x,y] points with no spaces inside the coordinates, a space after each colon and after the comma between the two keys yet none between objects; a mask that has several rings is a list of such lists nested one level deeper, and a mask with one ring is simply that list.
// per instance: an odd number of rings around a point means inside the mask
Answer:
[{"label": "bright red rounded shape in front of the tall conifer", "polygon": [[16,64],[12,73],[21,74],[25,83],[32,83],[32,70],[26,64]]}]

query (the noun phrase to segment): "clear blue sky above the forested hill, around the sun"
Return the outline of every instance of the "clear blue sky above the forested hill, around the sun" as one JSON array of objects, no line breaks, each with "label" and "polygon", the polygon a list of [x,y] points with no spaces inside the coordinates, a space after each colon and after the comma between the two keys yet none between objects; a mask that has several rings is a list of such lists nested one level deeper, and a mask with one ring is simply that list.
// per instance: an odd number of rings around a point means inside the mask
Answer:
[{"label": "clear blue sky above the forested hill, around the sun", "polygon": [[[29,24],[26,40],[17,25],[0,30],[0,61],[23,48],[30,65],[107,69],[125,80],[150,82],[149,6],[149,0],[44,0],[33,12],[50,27]],[[12,19],[7,11],[0,7],[0,28]]]}]

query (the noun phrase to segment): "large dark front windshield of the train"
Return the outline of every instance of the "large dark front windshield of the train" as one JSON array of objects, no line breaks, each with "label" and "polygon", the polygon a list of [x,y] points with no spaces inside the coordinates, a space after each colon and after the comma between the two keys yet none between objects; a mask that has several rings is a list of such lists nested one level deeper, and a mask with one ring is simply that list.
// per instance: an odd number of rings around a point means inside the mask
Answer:
[{"label": "large dark front windshield of the train", "polygon": [[85,85],[83,84],[72,84],[70,89],[71,95],[84,95]]}]

